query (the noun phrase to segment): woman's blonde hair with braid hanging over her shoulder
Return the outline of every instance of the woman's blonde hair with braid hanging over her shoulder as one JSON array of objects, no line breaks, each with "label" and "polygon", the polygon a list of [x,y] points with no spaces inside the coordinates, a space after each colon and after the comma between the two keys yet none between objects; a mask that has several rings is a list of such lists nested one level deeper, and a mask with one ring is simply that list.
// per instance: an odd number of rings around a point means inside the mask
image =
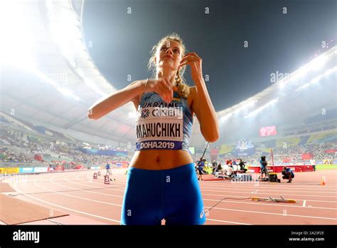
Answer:
[{"label": "woman's blonde hair with braid hanging over her shoulder", "polygon": [[[150,52],[151,58],[149,59],[149,63],[148,63],[149,71],[152,71],[152,77],[154,78],[156,78],[156,73],[157,73],[156,62],[154,60],[154,58],[156,58],[156,51],[161,46],[162,43],[164,43],[165,41],[169,41],[169,40],[177,41],[181,45],[181,56],[182,57],[185,56],[186,48],[183,44],[183,39],[178,35],[178,33],[171,33],[161,38],[161,40],[151,49],[151,52]],[[178,71],[176,73],[176,78],[175,78],[176,86],[178,88],[178,95],[180,95],[183,98],[187,98],[188,94],[190,93],[190,88],[185,83],[186,81],[185,81],[185,78],[183,77],[183,74],[185,73],[185,71],[186,71],[186,65],[178,68]]]}]

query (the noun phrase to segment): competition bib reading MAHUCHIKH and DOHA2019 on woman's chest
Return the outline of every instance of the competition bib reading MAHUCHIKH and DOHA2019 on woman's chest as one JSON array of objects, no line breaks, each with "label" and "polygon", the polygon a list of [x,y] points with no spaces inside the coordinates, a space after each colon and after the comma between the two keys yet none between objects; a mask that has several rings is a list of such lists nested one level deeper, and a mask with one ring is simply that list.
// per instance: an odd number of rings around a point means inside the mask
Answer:
[{"label": "competition bib reading MAHUCHIKH and DOHA2019 on woman's chest", "polygon": [[183,108],[179,103],[146,102],[139,105],[136,150],[181,150]]}]

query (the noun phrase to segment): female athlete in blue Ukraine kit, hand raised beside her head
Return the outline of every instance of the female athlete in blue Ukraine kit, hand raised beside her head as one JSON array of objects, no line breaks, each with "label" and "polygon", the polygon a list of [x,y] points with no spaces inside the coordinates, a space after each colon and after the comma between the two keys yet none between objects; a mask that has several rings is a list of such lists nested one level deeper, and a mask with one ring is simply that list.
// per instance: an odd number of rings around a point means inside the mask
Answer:
[{"label": "female athlete in blue Ukraine kit, hand raised beside her head", "polygon": [[[134,81],[99,100],[88,110],[97,120],[132,101],[137,110],[136,152],[127,172],[121,224],[203,224],[205,212],[188,139],[193,114],[208,142],[219,136],[218,120],[208,95],[202,59],[186,48],[177,33],[152,48],[152,79]],[[191,66],[194,86],[184,83]]]}]

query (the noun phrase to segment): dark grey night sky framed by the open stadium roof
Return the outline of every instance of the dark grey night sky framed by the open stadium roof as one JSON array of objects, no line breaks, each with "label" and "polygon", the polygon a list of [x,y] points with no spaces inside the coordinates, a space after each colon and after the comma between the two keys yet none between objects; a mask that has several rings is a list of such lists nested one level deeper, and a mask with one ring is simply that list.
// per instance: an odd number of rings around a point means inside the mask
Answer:
[{"label": "dark grey night sky framed by the open stadium roof", "polygon": [[[203,58],[203,76],[210,78],[206,84],[218,111],[270,86],[271,73],[291,73],[309,62],[314,53],[325,51],[322,41],[335,43],[336,3],[86,0],[82,25],[90,56],[117,89],[131,83],[128,75],[132,81],[150,77],[152,46],[178,33],[188,51]],[[185,78],[193,86],[189,68]]]}]

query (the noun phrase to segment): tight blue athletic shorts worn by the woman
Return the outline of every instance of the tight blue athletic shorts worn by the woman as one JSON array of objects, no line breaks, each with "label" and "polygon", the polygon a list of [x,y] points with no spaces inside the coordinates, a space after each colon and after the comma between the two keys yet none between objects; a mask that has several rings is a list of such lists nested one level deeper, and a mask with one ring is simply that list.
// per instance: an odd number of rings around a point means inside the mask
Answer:
[{"label": "tight blue athletic shorts worn by the woman", "polygon": [[121,224],[203,224],[206,221],[194,163],[169,170],[127,172]]}]

